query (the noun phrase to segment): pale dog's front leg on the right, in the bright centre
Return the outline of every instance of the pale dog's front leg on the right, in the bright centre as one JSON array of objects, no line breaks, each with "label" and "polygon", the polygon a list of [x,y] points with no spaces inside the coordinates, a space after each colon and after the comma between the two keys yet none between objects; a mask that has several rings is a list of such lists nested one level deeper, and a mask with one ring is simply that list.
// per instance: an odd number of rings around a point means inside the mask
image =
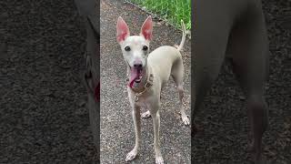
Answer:
[{"label": "pale dog's front leg on the right, in the bright centre", "polygon": [[151,115],[153,118],[153,125],[154,125],[154,148],[156,154],[156,164],[164,164],[164,159],[162,157],[161,149],[160,149],[160,114],[159,114],[160,102],[153,103],[151,105]]}]

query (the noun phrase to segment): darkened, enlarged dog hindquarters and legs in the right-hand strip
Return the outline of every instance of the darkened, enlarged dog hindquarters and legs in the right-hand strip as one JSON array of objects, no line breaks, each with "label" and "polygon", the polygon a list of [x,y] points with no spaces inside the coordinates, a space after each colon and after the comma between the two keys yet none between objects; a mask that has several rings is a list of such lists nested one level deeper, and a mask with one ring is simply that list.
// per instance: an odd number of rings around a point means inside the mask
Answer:
[{"label": "darkened, enlarged dog hindquarters and legs in the right-hand strip", "polygon": [[[191,122],[204,97],[229,57],[246,95],[251,150],[255,163],[263,163],[262,137],[268,127],[264,97],[269,51],[260,0],[197,0],[194,8],[194,105]],[[196,131],[192,126],[191,136]],[[192,142],[194,143],[194,142]],[[264,159],[265,160],[265,159]]]}]

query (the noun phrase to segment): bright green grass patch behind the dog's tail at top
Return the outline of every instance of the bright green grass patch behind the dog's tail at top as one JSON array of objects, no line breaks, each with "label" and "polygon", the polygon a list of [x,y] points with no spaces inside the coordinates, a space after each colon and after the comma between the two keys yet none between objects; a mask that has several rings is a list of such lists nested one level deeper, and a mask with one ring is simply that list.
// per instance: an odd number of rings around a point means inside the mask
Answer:
[{"label": "bright green grass patch behind the dog's tail at top", "polygon": [[181,19],[186,29],[191,29],[191,0],[126,0],[147,12],[166,20],[167,23],[181,28]]}]

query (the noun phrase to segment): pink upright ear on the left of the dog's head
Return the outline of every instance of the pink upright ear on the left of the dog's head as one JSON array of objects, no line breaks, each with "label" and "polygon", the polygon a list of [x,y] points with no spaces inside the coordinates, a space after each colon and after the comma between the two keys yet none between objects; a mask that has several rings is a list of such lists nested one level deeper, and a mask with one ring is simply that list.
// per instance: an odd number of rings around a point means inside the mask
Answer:
[{"label": "pink upright ear on the left of the dog's head", "polygon": [[129,28],[121,16],[118,17],[116,31],[117,31],[116,38],[118,43],[125,41],[125,38],[130,35]]}]

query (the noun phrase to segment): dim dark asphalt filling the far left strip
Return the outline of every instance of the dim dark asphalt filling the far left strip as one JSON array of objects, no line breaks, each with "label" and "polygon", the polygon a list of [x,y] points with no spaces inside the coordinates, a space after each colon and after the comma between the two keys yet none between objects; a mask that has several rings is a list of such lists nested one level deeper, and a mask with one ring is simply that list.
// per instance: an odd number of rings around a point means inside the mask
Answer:
[{"label": "dim dark asphalt filling the far left strip", "polygon": [[93,163],[74,1],[0,6],[0,163]]}]

